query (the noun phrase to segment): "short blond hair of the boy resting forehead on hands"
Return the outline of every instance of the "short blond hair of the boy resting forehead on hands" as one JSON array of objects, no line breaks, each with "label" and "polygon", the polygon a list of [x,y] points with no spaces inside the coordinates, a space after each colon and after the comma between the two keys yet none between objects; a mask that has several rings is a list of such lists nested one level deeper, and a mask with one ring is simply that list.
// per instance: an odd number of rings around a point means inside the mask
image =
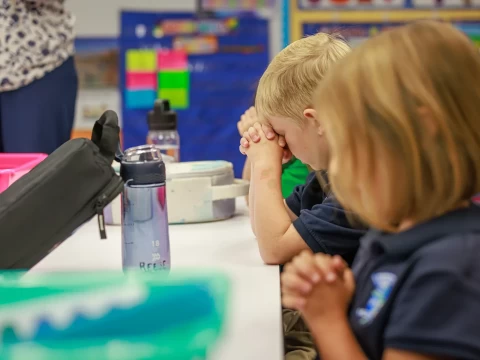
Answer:
[{"label": "short blond hair of the boy resting forehead on hands", "polygon": [[255,107],[259,120],[282,116],[302,121],[319,81],[332,63],[349,52],[340,36],[326,33],[307,36],[283,49],[258,84]]}]

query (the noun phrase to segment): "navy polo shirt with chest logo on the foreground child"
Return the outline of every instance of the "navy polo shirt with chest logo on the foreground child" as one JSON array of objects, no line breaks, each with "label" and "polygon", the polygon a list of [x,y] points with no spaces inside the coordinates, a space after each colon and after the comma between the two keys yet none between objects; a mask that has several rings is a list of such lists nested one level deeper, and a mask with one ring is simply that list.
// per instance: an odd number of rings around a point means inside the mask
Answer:
[{"label": "navy polo shirt with chest logo on the foreground child", "polygon": [[398,234],[370,231],[353,264],[350,324],[370,360],[394,348],[480,359],[480,207]]}]

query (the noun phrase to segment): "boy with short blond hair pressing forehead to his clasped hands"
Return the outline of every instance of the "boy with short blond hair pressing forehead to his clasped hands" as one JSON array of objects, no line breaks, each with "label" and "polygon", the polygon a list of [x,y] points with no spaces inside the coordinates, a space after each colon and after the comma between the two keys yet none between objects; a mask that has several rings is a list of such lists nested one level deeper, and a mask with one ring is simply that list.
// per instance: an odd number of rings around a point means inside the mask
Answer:
[{"label": "boy with short blond hair pressing forehead to his clasped hands", "polygon": [[351,263],[364,234],[321,186],[326,173],[320,182],[311,173],[285,201],[280,181],[285,150],[314,170],[326,168],[327,141],[311,99],[331,65],[349,52],[339,36],[305,37],[281,51],[260,79],[255,105],[262,125],[244,133],[240,151],[251,163],[251,224],[268,264],[283,264],[305,249]]}]

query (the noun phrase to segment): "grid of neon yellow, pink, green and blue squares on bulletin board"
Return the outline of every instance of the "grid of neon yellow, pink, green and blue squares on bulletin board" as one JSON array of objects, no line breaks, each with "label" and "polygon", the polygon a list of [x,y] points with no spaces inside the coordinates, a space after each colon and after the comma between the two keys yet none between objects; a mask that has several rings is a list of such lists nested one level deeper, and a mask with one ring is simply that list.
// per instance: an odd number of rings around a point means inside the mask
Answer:
[{"label": "grid of neon yellow, pink, green and blue squares on bulletin board", "polygon": [[157,98],[170,100],[175,109],[188,107],[190,74],[184,50],[132,49],[125,56],[126,108],[149,109]]}]

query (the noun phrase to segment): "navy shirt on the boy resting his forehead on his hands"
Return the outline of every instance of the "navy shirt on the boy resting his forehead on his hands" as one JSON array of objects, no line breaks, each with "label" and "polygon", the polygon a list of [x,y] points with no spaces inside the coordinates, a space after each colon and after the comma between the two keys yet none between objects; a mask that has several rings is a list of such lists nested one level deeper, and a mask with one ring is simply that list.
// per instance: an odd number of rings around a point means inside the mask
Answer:
[{"label": "navy shirt on the boy resting his forehead on his hands", "polygon": [[[328,182],[325,172],[320,176]],[[309,174],[306,184],[297,186],[285,201],[298,216],[293,226],[313,252],[340,255],[352,263],[366,229],[352,226],[334,196],[323,191],[315,172]]]}]

